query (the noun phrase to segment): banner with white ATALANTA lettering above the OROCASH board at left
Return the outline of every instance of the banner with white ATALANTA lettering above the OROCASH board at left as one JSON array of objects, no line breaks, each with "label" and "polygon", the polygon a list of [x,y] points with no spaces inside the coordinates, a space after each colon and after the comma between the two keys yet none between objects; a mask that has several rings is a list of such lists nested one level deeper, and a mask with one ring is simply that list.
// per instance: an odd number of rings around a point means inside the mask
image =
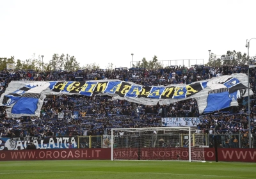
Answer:
[{"label": "banner with white ATALANTA lettering above the OROCASH board at left", "polygon": [[0,139],[0,150],[77,148],[77,137],[12,137]]}]

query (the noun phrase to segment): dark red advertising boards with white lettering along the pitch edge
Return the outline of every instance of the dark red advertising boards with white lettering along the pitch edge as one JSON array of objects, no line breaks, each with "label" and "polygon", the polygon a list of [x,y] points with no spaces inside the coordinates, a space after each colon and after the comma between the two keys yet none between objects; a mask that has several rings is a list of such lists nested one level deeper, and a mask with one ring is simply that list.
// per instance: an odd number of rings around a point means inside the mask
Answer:
[{"label": "dark red advertising boards with white lettering along the pitch edge", "polygon": [[[156,149],[154,149],[156,150]],[[176,150],[177,151],[177,150]],[[158,160],[166,160],[172,155],[172,150],[166,152],[158,148],[154,153],[144,153],[143,160],[150,160],[156,157]],[[137,153],[138,154],[138,153]],[[128,155],[135,157],[136,152],[127,152],[127,149],[115,150],[115,155],[122,155],[124,159],[129,159]],[[154,155],[154,156],[152,156]],[[186,152],[180,155],[187,156]],[[192,155],[202,155],[202,153],[192,153]],[[215,161],[214,148],[204,149],[205,160]],[[132,158],[132,157],[131,157]],[[0,161],[7,160],[110,160],[111,148],[73,148],[73,149],[45,149],[45,150],[12,150],[0,152]],[[155,158],[156,159],[156,158]],[[256,162],[256,150],[248,148],[218,148],[219,161],[227,162]]]}]

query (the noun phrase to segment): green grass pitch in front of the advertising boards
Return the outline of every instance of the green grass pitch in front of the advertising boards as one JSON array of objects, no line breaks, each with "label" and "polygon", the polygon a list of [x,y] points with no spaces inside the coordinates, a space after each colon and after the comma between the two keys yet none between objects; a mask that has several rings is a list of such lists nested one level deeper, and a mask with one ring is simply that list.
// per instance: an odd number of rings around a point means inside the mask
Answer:
[{"label": "green grass pitch in front of the advertising boards", "polygon": [[0,177],[22,178],[256,178],[256,163],[110,160],[0,162]]}]

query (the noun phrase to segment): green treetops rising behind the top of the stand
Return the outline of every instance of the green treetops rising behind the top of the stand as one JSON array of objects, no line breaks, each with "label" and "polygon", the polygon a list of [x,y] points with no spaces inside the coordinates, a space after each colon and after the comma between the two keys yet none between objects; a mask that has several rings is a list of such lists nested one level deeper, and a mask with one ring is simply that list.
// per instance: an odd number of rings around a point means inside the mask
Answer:
[{"label": "green treetops rising behind the top of the stand", "polygon": [[[205,66],[222,66],[222,65],[239,65],[239,64],[247,64],[247,54],[242,54],[241,52],[236,51],[227,51],[227,54],[223,56],[233,56],[233,60],[227,60],[223,61],[221,57],[216,57],[214,54],[211,54],[211,58],[209,59],[208,63],[205,64]],[[214,63],[215,62],[215,63]],[[67,70],[67,71],[76,71],[79,69],[99,69],[100,65],[96,63],[88,63],[84,66],[80,66],[80,64],[77,62],[76,58],[74,56],[70,56],[66,54],[53,54],[52,59],[49,61],[49,63],[43,63],[40,56],[38,58],[35,58],[35,54],[33,54],[33,58],[26,59],[24,61],[17,59],[17,62],[15,62],[14,57],[11,58],[0,58],[0,70],[4,70],[6,68],[6,63],[15,63],[15,70],[46,70],[46,71],[52,71],[52,70]],[[158,61],[157,56],[154,56],[152,60],[147,61],[146,58],[141,59],[141,61],[138,61],[136,65],[132,65],[132,67],[136,68],[148,68],[148,69],[159,69],[163,68],[163,64]],[[113,70],[113,63],[108,63],[108,66],[106,66],[106,69]]]}]

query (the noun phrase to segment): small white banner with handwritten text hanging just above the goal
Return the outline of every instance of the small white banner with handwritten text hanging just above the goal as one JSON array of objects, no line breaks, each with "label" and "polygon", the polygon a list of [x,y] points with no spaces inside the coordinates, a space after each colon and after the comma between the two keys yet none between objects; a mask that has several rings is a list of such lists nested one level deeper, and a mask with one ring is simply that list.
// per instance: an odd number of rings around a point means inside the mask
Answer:
[{"label": "small white banner with handwritten text hanging just above the goal", "polygon": [[199,118],[162,118],[165,127],[196,127],[198,123]]}]

